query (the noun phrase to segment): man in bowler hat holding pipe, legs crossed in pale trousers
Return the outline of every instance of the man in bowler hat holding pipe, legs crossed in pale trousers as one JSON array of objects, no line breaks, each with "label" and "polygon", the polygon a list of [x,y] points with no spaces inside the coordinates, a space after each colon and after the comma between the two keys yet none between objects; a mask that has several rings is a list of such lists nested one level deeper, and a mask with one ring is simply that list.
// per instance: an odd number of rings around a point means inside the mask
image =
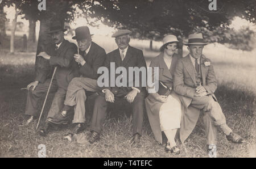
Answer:
[{"label": "man in bowler hat holding pipe, legs crossed in pale trousers", "polygon": [[97,85],[97,70],[104,64],[106,52],[103,48],[92,41],[92,35],[87,26],[78,27],[75,30],[79,46],[79,54],[75,54],[75,61],[79,63],[80,77],[73,78],[69,83],[64,107],[61,113],[49,119],[54,124],[63,124],[69,120],[69,112],[74,107],[75,115],[73,123],[76,124],[75,133],[85,129],[85,100],[86,95],[100,91]]}]

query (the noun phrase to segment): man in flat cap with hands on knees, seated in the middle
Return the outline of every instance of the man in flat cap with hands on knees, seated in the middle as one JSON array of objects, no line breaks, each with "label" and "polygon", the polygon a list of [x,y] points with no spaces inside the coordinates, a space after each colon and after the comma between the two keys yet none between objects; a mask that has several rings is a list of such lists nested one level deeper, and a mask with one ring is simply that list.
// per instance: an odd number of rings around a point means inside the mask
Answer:
[{"label": "man in flat cap with hands on knees, seated in the middle", "polygon": [[[113,34],[112,37],[115,37],[115,43],[118,46],[118,49],[113,50],[108,53],[106,56],[106,60],[104,66],[108,68],[108,79],[109,85],[101,87],[101,92],[99,92],[99,96],[97,96],[93,109],[92,123],[91,123],[91,134],[89,137],[89,142],[93,143],[100,139],[100,132],[102,129],[102,124],[104,122],[106,109],[108,104],[114,103],[117,99],[125,99],[127,103],[130,103],[133,107],[132,117],[133,117],[133,139],[131,140],[132,145],[137,145],[139,143],[139,139],[142,134],[142,122],[143,122],[143,113],[144,113],[144,98],[146,95],[146,88],[142,87],[142,75],[139,75],[139,85],[134,85],[134,81],[136,80],[135,74],[139,74],[139,72],[134,72],[133,74],[129,74],[129,67],[137,67],[139,69],[144,69],[146,71],[146,62],[144,60],[142,50],[131,47],[129,45],[130,42],[130,33],[131,31],[127,29],[122,29]],[[110,65],[115,65],[110,66]],[[126,69],[127,77],[133,76],[133,86],[130,86],[127,81],[125,85],[117,85],[116,83],[113,87],[110,86],[110,71],[116,73],[117,68],[122,67],[122,69]],[[123,72],[123,70],[121,70]],[[115,74],[115,78],[120,78],[121,72],[119,74]],[[120,81],[125,81],[126,79],[121,78]]]}]

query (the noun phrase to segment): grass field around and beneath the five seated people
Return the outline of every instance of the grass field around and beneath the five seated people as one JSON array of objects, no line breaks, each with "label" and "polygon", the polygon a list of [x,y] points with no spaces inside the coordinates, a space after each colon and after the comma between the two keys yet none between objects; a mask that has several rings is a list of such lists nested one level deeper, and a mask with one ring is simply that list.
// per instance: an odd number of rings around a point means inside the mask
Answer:
[{"label": "grass field around and beneath the five seated people", "polygon": [[[148,45],[148,44],[145,44]],[[103,46],[104,47],[104,46]],[[114,46],[113,46],[114,47]],[[108,49],[110,50],[110,48]],[[216,52],[218,51],[218,52]],[[184,55],[186,54],[184,50]],[[218,133],[218,157],[256,157],[255,151],[255,50],[243,52],[210,44],[204,49],[214,64],[218,79],[216,96],[228,125],[246,138],[246,143],[236,145]],[[92,145],[80,145],[64,140],[73,125],[58,128],[47,137],[39,137],[36,124],[19,126],[26,118],[26,87],[33,80],[35,53],[0,53],[0,157],[38,157],[38,145],[46,145],[47,157],[208,157],[202,119],[184,145],[181,154],[164,152],[151,132],[146,115],[143,122],[142,147],[131,147],[131,119],[126,107],[112,108],[105,120],[101,140]],[[144,50],[147,64],[157,52]],[[52,96],[50,97],[52,98]],[[42,123],[46,118],[51,99],[47,102]],[[114,111],[118,109],[118,111]],[[85,130],[88,132],[89,129]]]}]

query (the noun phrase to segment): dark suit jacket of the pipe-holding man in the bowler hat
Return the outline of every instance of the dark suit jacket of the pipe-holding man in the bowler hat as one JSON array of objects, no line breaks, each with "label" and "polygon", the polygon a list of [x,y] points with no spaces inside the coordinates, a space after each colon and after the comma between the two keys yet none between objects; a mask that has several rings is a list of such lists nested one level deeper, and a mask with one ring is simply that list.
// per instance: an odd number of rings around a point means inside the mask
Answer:
[{"label": "dark suit jacket of the pipe-holding man in the bowler hat", "polygon": [[82,57],[84,57],[86,63],[79,68],[79,73],[82,77],[97,79],[98,68],[103,66],[106,58],[105,50],[92,42],[89,52]]}]

